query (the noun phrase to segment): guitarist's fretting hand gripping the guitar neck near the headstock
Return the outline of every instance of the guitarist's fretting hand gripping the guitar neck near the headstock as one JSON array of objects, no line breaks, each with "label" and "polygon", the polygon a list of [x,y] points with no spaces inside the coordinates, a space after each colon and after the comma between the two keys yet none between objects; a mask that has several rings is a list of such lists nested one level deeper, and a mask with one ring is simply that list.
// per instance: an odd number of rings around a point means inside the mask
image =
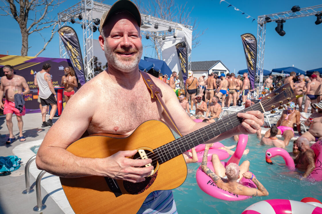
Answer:
[{"label": "guitarist's fretting hand gripping the guitar neck near the headstock", "polygon": [[[245,108],[250,106],[251,100],[248,99],[245,102]],[[242,118],[242,124],[236,127],[238,134],[255,134],[264,124],[264,116],[260,111],[238,113],[237,116]]]}]

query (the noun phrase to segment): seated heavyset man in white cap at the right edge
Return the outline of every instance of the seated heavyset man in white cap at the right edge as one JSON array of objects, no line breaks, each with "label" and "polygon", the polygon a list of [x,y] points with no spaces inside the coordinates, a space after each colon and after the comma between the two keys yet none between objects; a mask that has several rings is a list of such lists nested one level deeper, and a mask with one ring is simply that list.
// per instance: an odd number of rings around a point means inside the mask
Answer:
[{"label": "seated heavyset man in white cap at the right edge", "polygon": [[312,104],[312,108],[317,109],[317,112],[305,121],[304,124],[310,128],[302,136],[308,138],[309,141],[318,141],[322,140],[322,102]]}]

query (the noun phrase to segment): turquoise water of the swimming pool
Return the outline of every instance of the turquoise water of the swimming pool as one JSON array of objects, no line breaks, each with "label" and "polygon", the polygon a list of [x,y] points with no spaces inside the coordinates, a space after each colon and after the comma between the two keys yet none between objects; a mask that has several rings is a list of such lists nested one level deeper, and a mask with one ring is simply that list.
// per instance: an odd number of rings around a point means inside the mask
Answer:
[{"label": "turquoise water of the swimming pool", "polygon": [[[236,145],[232,138],[221,141],[225,146]],[[285,148],[292,151],[292,141]],[[280,156],[272,158],[273,165],[265,161],[265,152],[271,146],[259,145],[256,135],[248,137],[246,149],[250,152],[244,155],[244,160],[250,161],[250,171],[264,185],[269,196],[252,197],[245,201],[223,201],[200,190],[196,183],[196,171],[200,163],[187,164],[188,175],[185,182],[173,190],[178,213],[241,213],[253,203],[267,199],[290,199],[300,201],[304,197],[313,197],[322,201],[322,182],[300,181],[294,172],[289,172]],[[235,149],[233,149],[235,150]],[[224,160],[227,161],[228,159]]]}]

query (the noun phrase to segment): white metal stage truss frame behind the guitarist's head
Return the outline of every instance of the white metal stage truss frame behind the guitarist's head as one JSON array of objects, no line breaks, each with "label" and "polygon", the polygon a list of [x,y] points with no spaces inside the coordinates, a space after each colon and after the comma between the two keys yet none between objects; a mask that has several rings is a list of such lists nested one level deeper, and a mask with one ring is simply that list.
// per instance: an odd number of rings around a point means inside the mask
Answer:
[{"label": "white metal stage truss frame behind the guitarist's head", "polygon": [[[70,22],[71,18],[74,18],[75,23],[81,24],[83,28],[83,57],[84,57],[84,73],[85,81],[89,81],[94,77],[94,50],[93,50],[93,24],[94,18],[99,18],[101,15],[110,9],[111,5],[95,2],[92,0],[82,0],[77,4],[67,8],[66,10],[58,13],[58,25],[59,28],[66,25],[66,22]],[[79,21],[77,18],[81,14],[82,20]],[[150,24],[151,26],[158,24],[158,29],[150,27],[144,29],[141,27],[142,35],[156,36],[156,56],[161,58],[161,43],[160,39],[162,36],[170,33],[168,32],[169,27],[174,29],[180,29],[177,22],[160,19],[154,16],[146,15],[141,13],[141,19],[144,24]],[[181,24],[182,25],[182,24]],[[192,30],[192,26],[183,25],[185,28]],[[172,31],[174,32],[174,31]],[[67,52],[61,41],[59,40],[59,55],[61,58],[67,58]],[[189,67],[190,66],[190,67]],[[188,47],[188,69],[191,68],[191,47]]]}]

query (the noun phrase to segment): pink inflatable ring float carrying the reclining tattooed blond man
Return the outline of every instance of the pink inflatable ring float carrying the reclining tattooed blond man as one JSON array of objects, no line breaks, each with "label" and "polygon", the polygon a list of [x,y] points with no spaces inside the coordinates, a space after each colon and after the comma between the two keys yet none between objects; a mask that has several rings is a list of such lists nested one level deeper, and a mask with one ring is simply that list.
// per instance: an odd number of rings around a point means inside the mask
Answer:
[{"label": "pink inflatable ring float carrying the reclining tattooed blond man", "polygon": [[[243,152],[246,148],[246,145],[247,145],[247,140],[248,140],[248,135],[241,134],[239,136],[236,151],[234,152],[232,157],[227,162],[222,162],[224,167],[226,167],[230,163],[236,163],[237,165],[239,165],[239,161],[242,158],[242,154],[243,154]],[[207,167],[209,167],[211,170],[214,171],[212,162],[208,162]],[[218,199],[222,199],[222,200],[226,200],[226,201],[241,201],[241,200],[251,198],[251,196],[237,195],[237,194],[234,194],[234,193],[231,193],[229,191],[219,188],[213,182],[211,177],[209,177],[208,175],[206,175],[204,173],[204,171],[201,169],[201,167],[199,167],[197,169],[196,181],[197,181],[199,188],[202,191],[204,191],[208,195],[213,196]],[[244,186],[247,186],[247,187],[256,188],[256,185],[250,179],[246,179],[244,177],[242,177],[242,179],[239,181],[239,183]]]}]

